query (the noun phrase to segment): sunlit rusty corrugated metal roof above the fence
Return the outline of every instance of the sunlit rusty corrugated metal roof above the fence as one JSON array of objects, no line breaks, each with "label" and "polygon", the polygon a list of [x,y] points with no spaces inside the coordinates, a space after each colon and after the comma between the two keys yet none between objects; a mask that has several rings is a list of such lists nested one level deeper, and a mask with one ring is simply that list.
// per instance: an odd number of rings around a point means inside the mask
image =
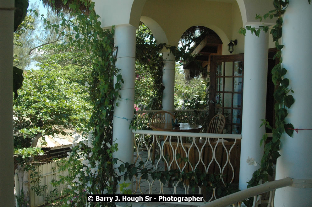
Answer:
[{"label": "sunlit rusty corrugated metal roof above the fence", "polygon": [[52,135],[44,135],[44,139],[46,143],[43,141],[43,137],[40,137],[37,142],[37,147],[41,148],[53,148],[53,147],[59,147],[59,146],[68,146],[72,145],[75,137],[78,138],[80,141],[82,139],[81,134],[73,131],[73,130],[63,130],[68,135],[62,135],[62,134],[54,134]]}]

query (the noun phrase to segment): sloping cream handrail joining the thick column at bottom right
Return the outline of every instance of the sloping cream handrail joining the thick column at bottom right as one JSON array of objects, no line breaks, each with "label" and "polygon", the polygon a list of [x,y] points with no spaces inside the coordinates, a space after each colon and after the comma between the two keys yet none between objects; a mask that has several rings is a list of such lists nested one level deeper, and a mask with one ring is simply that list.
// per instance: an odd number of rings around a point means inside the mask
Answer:
[{"label": "sloping cream handrail joining the thick column at bottom right", "polygon": [[[232,204],[233,206],[240,206],[242,203],[242,200],[248,199],[251,197],[253,197],[252,206],[256,207],[261,202],[262,194],[267,193],[267,192],[270,193],[267,206],[268,207],[274,206],[275,189],[290,186],[291,184],[293,184],[293,180],[291,178],[284,178],[280,180],[271,181],[268,183],[264,183],[255,187],[251,187],[251,188],[224,196],[220,199],[203,204],[201,205],[201,207],[227,206],[227,205],[232,205]],[[263,205],[261,204],[261,206]]]}]

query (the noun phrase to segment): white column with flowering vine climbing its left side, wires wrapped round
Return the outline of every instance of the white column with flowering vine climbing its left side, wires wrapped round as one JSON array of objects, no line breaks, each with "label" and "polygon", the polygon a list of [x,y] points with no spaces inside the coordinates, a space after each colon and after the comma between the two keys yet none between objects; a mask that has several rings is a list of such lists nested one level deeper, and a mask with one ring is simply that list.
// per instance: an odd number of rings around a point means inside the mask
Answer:
[{"label": "white column with flowering vine climbing its left side, wires wrapped round", "polygon": [[[113,156],[129,163],[133,163],[133,133],[129,125],[134,117],[135,30],[132,25],[115,27],[116,67],[120,69],[124,84],[119,91],[121,99],[114,108],[113,141],[118,143],[118,151]],[[120,164],[118,162],[117,167]],[[133,189],[132,179],[127,182],[131,183],[129,189]]]}]

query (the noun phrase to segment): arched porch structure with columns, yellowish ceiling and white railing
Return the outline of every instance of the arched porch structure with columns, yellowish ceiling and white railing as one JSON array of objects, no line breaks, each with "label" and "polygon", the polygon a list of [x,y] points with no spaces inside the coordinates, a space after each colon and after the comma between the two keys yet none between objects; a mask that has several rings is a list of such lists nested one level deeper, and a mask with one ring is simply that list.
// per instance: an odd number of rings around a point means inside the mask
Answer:
[{"label": "arched porch structure with columns, yellowish ceiling and white railing", "polygon": [[[249,1],[249,0],[95,0],[96,12],[101,16],[103,28],[111,28],[115,25],[115,45],[118,46],[116,66],[120,69],[124,83],[121,85],[118,100],[118,107],[114,110],[113,120],[113,140],[118,143],[118,151],[114,157],[123,162],[138,164],[141,166],[155,168],[155,170],[166,171],[173,169],[183,172],[190,166],[195,171],[200,168],[201,173],[207,174],[210,169],[220,174],[221,184],[233,183],[238,181],[238,188],[244,190],[247,188],[247,181],[252,178],[252,174],[260,166],[250,166],[246,160],[248,157],[260,162],[263,156],[263,145],[259,145],[262,135],[265,133],[264,126],[259,127],[261,119],[265,119],[266,107],[266,85],[267,85],[267,64],[268,49],[275,47],[268,33],[261,31],[260,37],[246,33],[246,36],[238,34],[238,30],[244,26],[259,27],[262,25],[273,25],[274,19],[266,19],[259,23],[255,20],[256,14],[264,14],[272,9],[272,0]],[[13,7],[13,1],[10,1],[10,8]],[[0,3],[1,8],[8,7],[6,2]],[[288,111],[287,121],[293,123],[295,128],[311,128],[312,126],[312,90],[309,82],[312,78],[312,7],[307,0],[290,0],[287,13],[284,15],[285,23],[283,26],[282,41],[285,42],[282,56],[283,65],[287,67],[287,77],[291,79],[290,87],[295,91],[296,100],[292,109]],[[1,11],[2,19],[12,15],[9,11]],[[230,40],[237,39],[238,45],[233,54],[244,53],[244,96],[242,109],[242,129],[241,134],[206,134],[206,133],[186,133],[186,132],[161,132],[148,130],[151,114],[156,111],[139,111],[134,114],[134,74],[135,74],[135,31],[139,23],[143,22],[152,31],[157,43],[166,43],[167,45],[178,46],[178,40],[183,32],[191,26],[201,25],[212,29],[223,42],[222,55],[229,55],[227,44]],[[301,24],[298,24],[298,23]],[[300,25],[304,25],[301,27]],[[0,28],[11,28],[9,25],[3,25]],[[7,29],[11,31],[10,29]],[[4,34],[1,31],[1,34]],[[9,33],[8,33],[8,36]],[[10,48],[13,42],[8,38],[1,42],[1,47]],[[11,49],[10,49],[11,50]],[[214,115],[211,112],[200,111],[200,117],[194,111],[177,111],[174,109],[174,67],[175,57],[166,49],[161,51],[163,55],[163,91],[162,110],[172,113],[184,113],[181,117],[185,122],[196,122],[200,120],[200,125],[207,126],[208,116]],[[1,63],[1,81],[0,81],[0,130],[2,132],[3,142],[0,146],[1,159],[3,165],[0,166],[1,176],[0,200],[3,205],[10,206],[14,200],[13,180],[4,180],[10,178],[11,172],[7,169],[13,169],[12,147],[12,74],[6,71],[9,67],[8,50],[2,50]],[[5,64],[4,64],[5,63]],[[11,63],[10,63],[11,64]],[[4,67],[4,65],[8,65]],[[9,98],[7,98],[9,97]],[[192,114],[193,113],[193,114]],[[137,117],[137,128],[139,130],[129,129],[129,125],[134,117]],[[181,118],[182,119],[182,118]],[[180,119],[180,120],[181,120]],[[8,127],[9,126],[9,127]],[[205,131],[203,131],[205,132]],[[184,148],[182,137],[188,138],[189,148]],[[155,139],[153,139],[155,138]],[[172,138],[175,138],[176,146],[173,146]],[[196,142],[199,139],[200,142]],[[215,141],[216,139],[216,141]],[[212,141],[213,140],[213,141]],[[227,142],[226,142],[227,141]],[[182,144],[181,144],[182,142]],[[235,166],[231,161],[233,149],[240,142],[239,158],[235,160],[239,164],[239,174],[235,175]],[[312,203],[312,160],[310,159],[310,149],[312,147],[311,131],[300,131],[289,137],[284,133],[281,139],[280,154],[276,164],[276,180],[287,178],[283,183],[273,183],[273,187],[266,185],[265,191],[270,192],[275,188],[276,206],[307,206]],[[178,161],[177,149],[179,143],[182,152],[185,153],[183,162]],[[230,145],[226,143],[231,143]],[[156,160],[153,163],[151,159],[152,146],[156,145]],[[205,146],[207,146],[205,148]],[[166,148],[167,147],[167,148]],[[216,155],[218,149],[222,149],[222,161]],[[191,164],[189,154],[197,154],[196,162]],[[204,151],[211,152],[212,156],[205,160]],[[171,158],[169,155],[171,151]],[[142,153],[145,153],[144,155]],[[146,154],[147,153],[147,154]],[[180,154],[180,153],[179,153]],[[181,155],[181,154],[180,154]],[[136,157],[135,157],[136,156]],[[158,156],[158,157],[157,157]],[[182,164],[181,164],[182,163]],[[120,163],[118,163],[120,165]],[[118,167],[118,166],[116,166]],[[161,167],[158,169],[158,167]],[[227,171],[225,173],[225,171]],[[13,172],[13,170],[12,170]],[[182,173],[181,173],[182,174]],[[223,174],[229,178],[223,179]],[[292,181],[289,181],[289,179]],[[164,191],[164,182],[160,178],[145,179],[145,187],[148,191],[142,190],[141,175],[130,178],[130,188],[134,193],[141,194],[162,194]],[[12,181],[12,182],[11,182]],[[123,182],[123,181],[121,181]],[[159,183],[156,184],[155,183]],[[182,184],[179,184],[182,183]],[[295,183],[295,184],[292,184]],[[172,194],[202,194],[201,185],[194,187],[190,183],[179,182],[171,183],[170,190]],[[169,183],[168,183],[169,188]],[[287,187],[286,187],[287,186]],[[157,190],[155,189],[157,188]],[[192,191],[195,188],[195,191]],[[211,186],[211,193],[205,199],[206,202],[218,198],[217,187]],[[240,197],[242,199],[248,198]],[[255,193],[255,196],[258,195]],[[270,194],[274,196],[274,193]],[[254,196],[254,195],[252,195]],[[254,197],[255,201],[259,197]],[[260,196],[261,200],[261,196]],[[231,200],[232,201],[232,200]],[[238,201],[238,200],[236,200]],[[236,202],[235,201],[235,202]],[[269,200],[269,204],[272,199]],[[205,205],[209,205],[205,204]],[[256,205],[256,204],[255,204]]]}]

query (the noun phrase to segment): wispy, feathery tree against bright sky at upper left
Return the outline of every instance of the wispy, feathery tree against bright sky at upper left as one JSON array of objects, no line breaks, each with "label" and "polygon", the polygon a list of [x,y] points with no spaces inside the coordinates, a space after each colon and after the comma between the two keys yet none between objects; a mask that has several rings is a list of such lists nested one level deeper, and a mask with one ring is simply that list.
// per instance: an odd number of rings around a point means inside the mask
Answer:
[{"label": "wispy, feathery tree against bright sky at upper left", "polygon": [[[61,25],[62,18],[53,13],[50,8],[47,8],[46,19],[41,18],[44,16],[42,14],[37,15],[39,12],[38,4],[30,5],[24,21],[14,33],[14,66],[22,70],[29,69],[33,63],[40,61],[42,54],[39,49],[42,46],[61,44],[67,41],[62,33],[55,31],[49,25],[58,25],[61,32],[68,32],[70,28]],[[65,17],[68,21],[72,19],[70,14],[65,14]]]}]

